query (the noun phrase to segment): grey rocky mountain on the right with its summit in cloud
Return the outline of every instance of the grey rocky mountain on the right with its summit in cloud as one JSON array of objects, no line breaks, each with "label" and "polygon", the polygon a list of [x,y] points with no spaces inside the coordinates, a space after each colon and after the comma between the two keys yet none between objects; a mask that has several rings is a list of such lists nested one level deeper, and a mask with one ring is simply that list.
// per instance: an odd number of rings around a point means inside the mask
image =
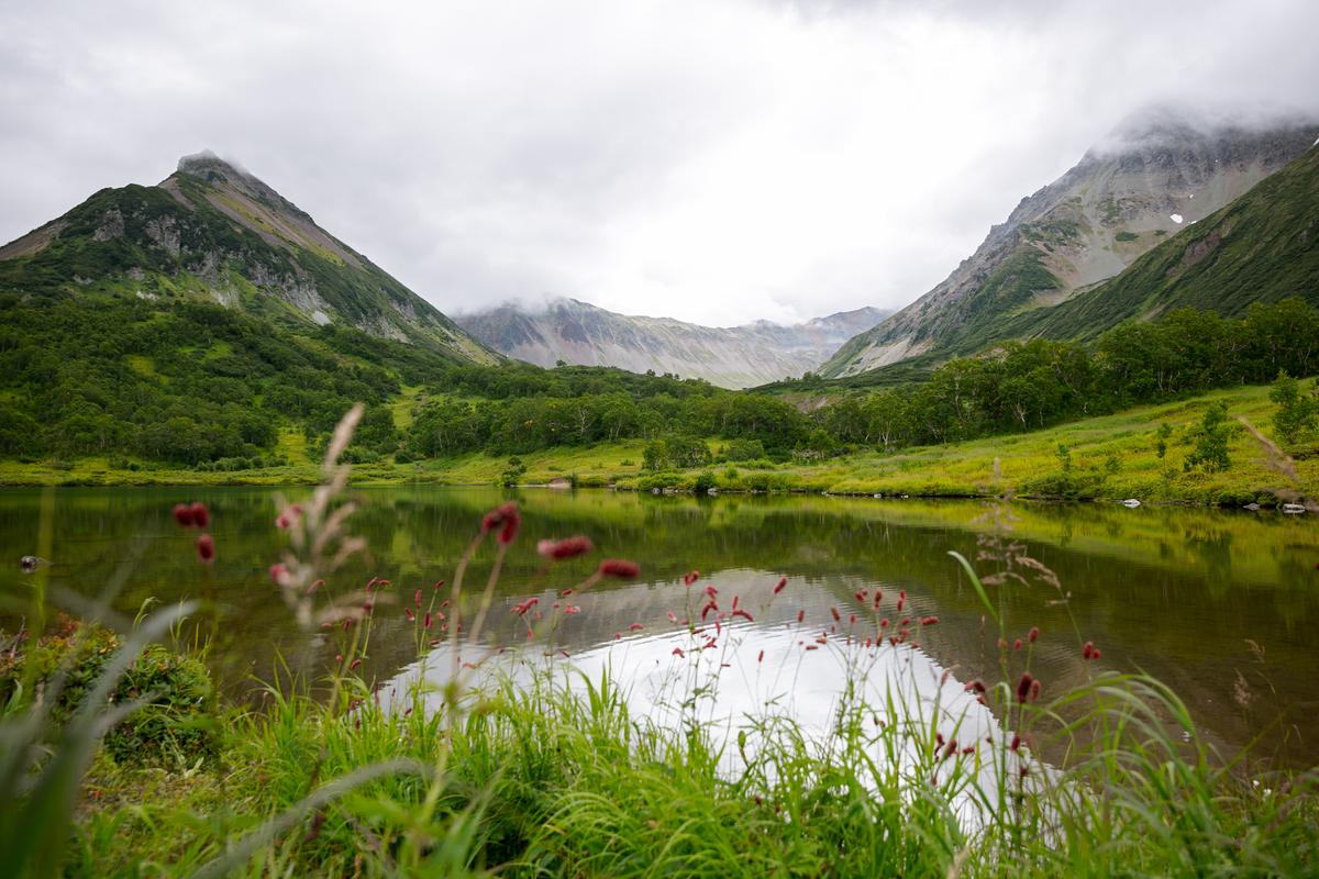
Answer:
[{"label": "grey rocky mountain on the right with its summit in cloud", "polygon": [[936,362],[1033,335],[1053,310],[1087,290],[1097,295],[1097,285],[1249,191],[1316,136],[1314,123],[1256,130],[1145,112],[1022,199],[942,283],[848,340],[820,373]]}]

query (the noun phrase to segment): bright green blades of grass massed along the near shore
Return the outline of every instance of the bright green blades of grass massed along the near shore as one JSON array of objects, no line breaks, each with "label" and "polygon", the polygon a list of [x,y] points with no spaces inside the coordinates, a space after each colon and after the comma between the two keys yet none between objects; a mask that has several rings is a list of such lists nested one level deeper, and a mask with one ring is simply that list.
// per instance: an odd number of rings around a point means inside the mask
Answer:
[{"label": "bright green blades of grass massed along the near shore", "polygon": [[[1043,706],[993,695],[1034,741],[1091,737],[1060,774],[1026,756],[1026,783],[1005,738],[950,759],[938,722],[892,701],[844,697],[827,742],[762,706],[743,745],[634,717],[608,677],[487,687],[451,738],[421,702],[404,716],[368,701],[350,722],[293,688],[270,696],[232,718],[207,767],[103,756],[66,875],[190,875],[326,780],[398,758],[438,774],[386,775],[309,810],[241,875],[1304,875],[1319,854],[1314,776],[1252,784],[1213,758],[1174,695],[1136,677],[1105,675]],[[744,770],[720,771],[725,747]],[[1013,771],[973,772],[996,762]],[[968,799],[987,804],[979,830],[958,820]]]}]

